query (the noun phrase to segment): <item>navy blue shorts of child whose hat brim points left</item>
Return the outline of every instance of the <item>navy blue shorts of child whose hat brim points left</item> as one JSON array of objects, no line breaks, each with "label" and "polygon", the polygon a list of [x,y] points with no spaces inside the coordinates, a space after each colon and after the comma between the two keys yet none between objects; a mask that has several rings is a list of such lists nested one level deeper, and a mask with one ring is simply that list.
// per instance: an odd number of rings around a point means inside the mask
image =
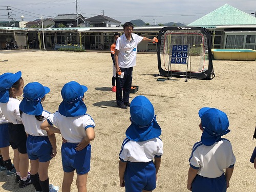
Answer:
[{"label": "navy blue shorts of child whose hat brim points left", "polygon": [[224,173],[220,177],[208,178],[197,175],[192,182],[193,192],[226,192],[227,182]]}]

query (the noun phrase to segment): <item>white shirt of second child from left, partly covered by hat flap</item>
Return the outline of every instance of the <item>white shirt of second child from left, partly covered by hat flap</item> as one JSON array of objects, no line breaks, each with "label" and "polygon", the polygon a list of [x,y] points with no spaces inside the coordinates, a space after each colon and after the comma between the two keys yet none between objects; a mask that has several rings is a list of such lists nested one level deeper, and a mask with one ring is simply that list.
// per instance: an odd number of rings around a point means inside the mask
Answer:
[{"label": "white shirt of second child from left, partly covered by hat flap", "polygon": [[45,130],[41,130],[40,125],[49,117],[49,115],[49,112],[42,111],[44,119],[42,121],[38,121],[34,115],[23,113],[22,122],[25,127],[25,132],[32,136],[47,136],[47,132]]}]

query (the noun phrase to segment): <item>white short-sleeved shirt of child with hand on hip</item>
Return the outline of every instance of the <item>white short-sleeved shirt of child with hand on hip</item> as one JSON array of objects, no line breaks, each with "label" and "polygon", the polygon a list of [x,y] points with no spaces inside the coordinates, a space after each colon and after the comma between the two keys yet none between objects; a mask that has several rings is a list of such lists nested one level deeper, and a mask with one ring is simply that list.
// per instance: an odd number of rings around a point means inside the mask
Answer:
[{"label": "white short-sleeved shirt of child with hand on hip", "polygon": [[61,133],[61,136],[69,143],[79,143],[86,137],[86,129],[88,127],[95,127],[94,120],[88,114],[76,117],[65,117],[58,111],[51,114],[48,123],[55,125]]}]

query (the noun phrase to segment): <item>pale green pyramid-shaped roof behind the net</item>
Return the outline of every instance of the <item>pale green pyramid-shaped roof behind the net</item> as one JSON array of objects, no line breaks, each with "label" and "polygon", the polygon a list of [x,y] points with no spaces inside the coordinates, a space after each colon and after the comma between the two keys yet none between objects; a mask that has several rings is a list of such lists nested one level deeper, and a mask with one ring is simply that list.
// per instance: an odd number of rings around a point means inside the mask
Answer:
[{"label": "pale green pyramid-shaped roof behind the net", "polygon": [[220,8],[188,24],[188,26],[256,25],[256,18],[234,8],[223,5]]}]

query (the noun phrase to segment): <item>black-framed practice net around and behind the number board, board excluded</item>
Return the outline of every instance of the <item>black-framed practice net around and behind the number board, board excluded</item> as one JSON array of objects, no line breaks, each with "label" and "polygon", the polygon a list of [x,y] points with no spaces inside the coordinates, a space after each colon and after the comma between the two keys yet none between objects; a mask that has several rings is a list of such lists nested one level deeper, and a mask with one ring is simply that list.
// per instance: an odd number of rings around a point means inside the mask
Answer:
[{"label": "black-framed practice net around and behind the number board, board excluded", "polygon": [[[193,37],[193,40],[189,40]],[[191,38],[192,39],[192,38]],[[172,65],[169,69],[169,51],[171,45],[189,45],[190,51],[198,48],[200,56],[193,56],[190,53],[189,75],[191,78],[212,79],[214,78],[214,68],[211,58],[211,36],[207,29],[200,27],[164,27],[158,33],[157,57],[158,70],[160,76],[186,77],[185,65]],[[196,45],[195,45],[196,44]],[[198,60],[195,60],[197,58]],[[191,65],[191,60],[194,62]],[[196,62],[196,63],[195,63]]]}]

